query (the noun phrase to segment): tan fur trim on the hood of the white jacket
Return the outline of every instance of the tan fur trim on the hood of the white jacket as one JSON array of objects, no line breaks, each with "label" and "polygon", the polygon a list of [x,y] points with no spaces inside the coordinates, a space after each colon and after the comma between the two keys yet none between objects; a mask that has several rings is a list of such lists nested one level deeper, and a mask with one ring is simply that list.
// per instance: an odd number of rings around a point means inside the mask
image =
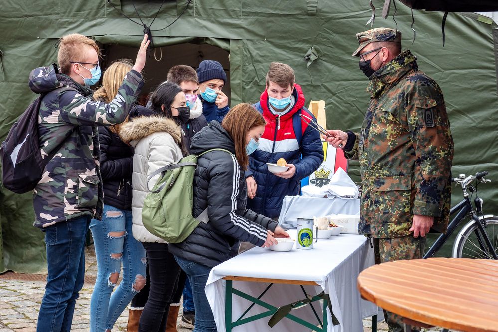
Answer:
[{"label": "tan fur trim on the hood of the white jacket", "polygon": [[162,116],[141,116],[121,125],[119,136],[125,143],[141,140],[157,132],[166,132],[176,144],[181,143],[181,128],[174,120]]}]

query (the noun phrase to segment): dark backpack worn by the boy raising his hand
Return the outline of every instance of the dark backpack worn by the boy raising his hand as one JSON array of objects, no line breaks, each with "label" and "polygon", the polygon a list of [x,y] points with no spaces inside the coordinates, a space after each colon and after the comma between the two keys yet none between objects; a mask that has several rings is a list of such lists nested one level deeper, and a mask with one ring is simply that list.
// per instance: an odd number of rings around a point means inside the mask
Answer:
[{"label": "dark backpack worn by the boy raising his hand", "polygon": [[45,159],[41,158],[38,116],[44,96],[45,94],[41,94],[29,105],[1,144],[3,186],[15,193],[29,192],[36,187],[45,166],[64,143]]}]

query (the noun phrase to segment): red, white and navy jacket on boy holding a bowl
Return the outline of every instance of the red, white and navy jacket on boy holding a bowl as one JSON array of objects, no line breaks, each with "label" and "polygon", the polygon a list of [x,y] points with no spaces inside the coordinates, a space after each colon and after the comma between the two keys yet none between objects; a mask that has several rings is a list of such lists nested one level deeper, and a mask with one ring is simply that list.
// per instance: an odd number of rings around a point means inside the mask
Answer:
[{"label": "red, white and navy jacket on boy holding a bowl", "polygon": [[[320,134],[298,115],[303,113],[315,120],[304,107],[304,95],[298,84],[294,84],[293,95],[296,100],[293,109],[282,116],[276,116],[268,109],[266,90],[261,94],[260,102],[253,105],[263,114],[267,124],[258,150],[249,156],[246,177],[254,176],[258,187],[256,197],[248,200],[247,207],[270,218],[280,215],[285,196],[299,195],[301,179],[317,170],[324,161]],[[266,163],[276,164],[280,158],[296,166],[294,177],[284,179],[268,171]]]}]

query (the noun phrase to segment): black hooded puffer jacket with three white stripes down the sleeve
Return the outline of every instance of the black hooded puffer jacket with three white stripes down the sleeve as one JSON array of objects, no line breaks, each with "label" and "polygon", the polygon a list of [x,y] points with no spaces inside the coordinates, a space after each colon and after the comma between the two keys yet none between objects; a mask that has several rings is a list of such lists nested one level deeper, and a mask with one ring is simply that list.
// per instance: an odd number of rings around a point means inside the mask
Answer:
[{"label": "black hooded puffer jacket with three white stripes down the sleeve", "polygon": [[237,241],[261,246],[267,229],[274,231],[278,223],[246,209],[247,186],[244,171],[235,158],[235,145],[228,132],[212,121],[198,132],[190,147],[191,153],[222,148],[199,157],[195,171],[193,216],[207,208],[209,222],[200,223],[185,241],[169,244],[176,256],[207,267],[214,267],[230,258],[230,248]]}]

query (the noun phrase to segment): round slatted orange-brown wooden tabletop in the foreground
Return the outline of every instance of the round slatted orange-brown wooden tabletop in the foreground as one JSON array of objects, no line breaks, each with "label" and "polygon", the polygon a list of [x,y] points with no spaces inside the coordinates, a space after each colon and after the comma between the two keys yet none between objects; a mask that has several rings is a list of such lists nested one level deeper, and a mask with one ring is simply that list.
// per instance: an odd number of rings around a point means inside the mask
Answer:
[{"label": "round slatted orange-brown wooden tabletop in the foreground", "polygon": [[498,261],[429,258],[371,266],[361,296],[379,307],[458,331],[498,332]]}]

